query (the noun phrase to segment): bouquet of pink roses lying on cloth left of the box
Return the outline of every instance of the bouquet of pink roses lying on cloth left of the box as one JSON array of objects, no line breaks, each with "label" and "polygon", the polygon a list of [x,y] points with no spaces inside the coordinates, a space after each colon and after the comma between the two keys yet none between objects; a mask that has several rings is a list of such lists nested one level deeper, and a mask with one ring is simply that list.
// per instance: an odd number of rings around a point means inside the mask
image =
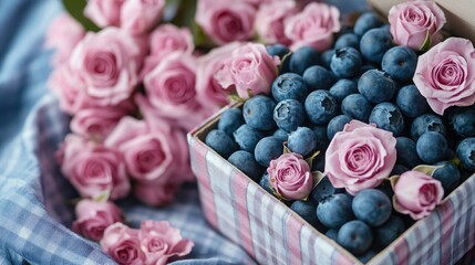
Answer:
[{"label": "bouquet of pink roses lying on cloth left of the box", "polygon": [[58,160],[82,198],[73,230],[123,264],[186,255],[193,243],[178,231],[153,221],[126,227],[114,201],[132,193],[171,203],[194,180],[186,132],[230,98],[268,93],[283,67],[247,42],[323,50],[339,12],[290,0],[63,2],[69,14],[51,24],[47,46],[56,50],[50,87],[72,117]]}]

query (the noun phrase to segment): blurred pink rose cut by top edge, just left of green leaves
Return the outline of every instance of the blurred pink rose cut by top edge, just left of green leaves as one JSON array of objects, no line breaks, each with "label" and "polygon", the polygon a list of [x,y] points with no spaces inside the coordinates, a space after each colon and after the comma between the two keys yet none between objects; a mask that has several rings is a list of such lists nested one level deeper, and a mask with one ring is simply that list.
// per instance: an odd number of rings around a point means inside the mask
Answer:
[{"label": "blurred pink rose cut by top edge, just left of green leaves", "polygon": [[121,28],[132,34],[142,34],[162,17],[165,0],[127,0],[121,8]]}]

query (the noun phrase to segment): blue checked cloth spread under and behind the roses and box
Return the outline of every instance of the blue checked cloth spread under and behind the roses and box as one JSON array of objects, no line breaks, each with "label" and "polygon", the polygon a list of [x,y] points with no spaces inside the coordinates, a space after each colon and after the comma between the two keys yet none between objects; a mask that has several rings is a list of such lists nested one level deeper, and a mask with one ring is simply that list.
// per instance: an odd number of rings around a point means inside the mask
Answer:
[{"label": "blue checked cloth spread under and behind the roses and box", "polygon": [[[362,0],[351,2],[365,9]],[[0,1],[0,264],[114,264],[69,229],[78,193],[54,159],[69,117],[48,91],[52,52],[43,49],[48,25],[61,12],[59,0]],[[207,224],[195,184],[166,208],[133,199],[120,205],[134,227],[146,219],[167,220],[195,242],[175,264],[255,263]]]}]

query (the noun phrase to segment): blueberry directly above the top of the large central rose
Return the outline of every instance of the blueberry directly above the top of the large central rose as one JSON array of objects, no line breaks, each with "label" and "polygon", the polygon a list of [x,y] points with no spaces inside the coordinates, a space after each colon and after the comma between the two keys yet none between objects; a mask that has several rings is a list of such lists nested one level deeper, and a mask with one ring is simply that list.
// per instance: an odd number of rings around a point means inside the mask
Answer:
[{"label": "blueberry directly above the top of the large central rose", "polygon": [[352,118],[368,123],[373,105],[361,94],[351,94],[341,103],[341,112]]}]

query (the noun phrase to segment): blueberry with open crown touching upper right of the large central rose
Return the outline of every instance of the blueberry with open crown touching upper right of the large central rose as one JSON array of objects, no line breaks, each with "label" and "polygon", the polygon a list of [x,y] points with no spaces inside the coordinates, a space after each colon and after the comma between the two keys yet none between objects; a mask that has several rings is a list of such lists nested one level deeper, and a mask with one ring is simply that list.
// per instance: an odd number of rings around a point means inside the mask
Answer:
[{"label": "blueberry with open crown touching upper right of the large central rose", "polygon": [[378,128],[393,132],[394,137],[401,135],[404,129],[401,110],[392,103],[380,103],[374,106],[369,120]]}]

